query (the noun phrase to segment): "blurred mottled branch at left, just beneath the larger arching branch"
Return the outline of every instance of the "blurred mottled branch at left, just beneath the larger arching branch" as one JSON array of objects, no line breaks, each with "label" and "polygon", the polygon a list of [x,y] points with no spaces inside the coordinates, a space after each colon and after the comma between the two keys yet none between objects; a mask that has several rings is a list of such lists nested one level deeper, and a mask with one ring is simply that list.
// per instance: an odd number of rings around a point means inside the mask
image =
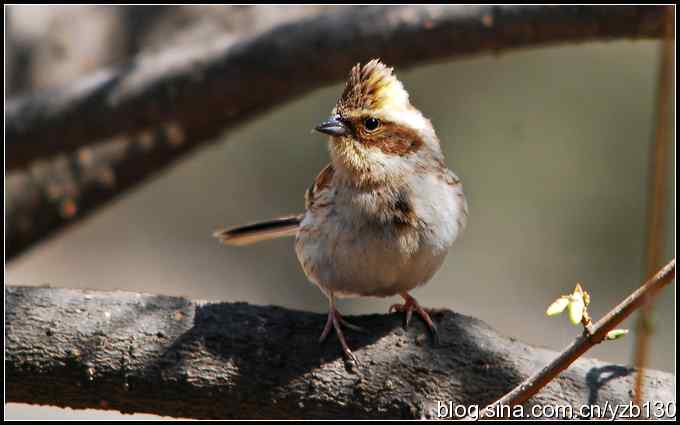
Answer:
[{"label": "blurred mottled branch at left, just beneath the larger arching branch", "polygon": [[139,185],[190,151],[186,134],[172,124],[118,137],[77,154],[39,160],[5,183],[5,258]]}]

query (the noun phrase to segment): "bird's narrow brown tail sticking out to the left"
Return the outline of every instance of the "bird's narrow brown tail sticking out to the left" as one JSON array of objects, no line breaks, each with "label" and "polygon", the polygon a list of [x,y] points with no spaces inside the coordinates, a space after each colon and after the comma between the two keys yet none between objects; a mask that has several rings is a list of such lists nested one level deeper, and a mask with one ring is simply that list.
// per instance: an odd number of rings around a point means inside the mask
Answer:
[{"label": "bird's narrow brown tail sticking out to the left", "polygon": [[213,233],[213,236],[225,245],[249,245],[268,239],[295,236],[303,217],[303,214],[292,215],[231,229],[221,229]]}]

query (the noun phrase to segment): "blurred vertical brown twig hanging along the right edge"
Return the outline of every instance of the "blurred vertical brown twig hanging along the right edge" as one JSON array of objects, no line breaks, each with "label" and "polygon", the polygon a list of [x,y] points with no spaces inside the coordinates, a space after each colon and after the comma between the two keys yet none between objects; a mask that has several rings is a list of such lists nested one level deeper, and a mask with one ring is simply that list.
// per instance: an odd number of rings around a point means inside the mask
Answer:
[{"label": "blurred vertical brown twig hanging along the right edge", "polygon": [[[673,53],[675,52],[674,23],[675,6],[666,6],[665,36],[663,39],[661,58],[659,63],[657,107],[656,107],[656,132],[652,146],[650,199],[649,199],[649,224],[647,234],[647,268],[645,276],[651,276],[661,262],[661,251],[664,245],[664,206],[665,206],[665,182],[667,179],[666,165],[668,145],[668,118],[673,84]],[[649,336],[651,333],[651,315],[654,305],[651,300],[646,301],[640,310],[637,320],[637,342],[635,344],[635,367],[643,370],[647,364],[649,354]],[[643,374],[639,373],[635,380],[635,403],[642,400]]]}]

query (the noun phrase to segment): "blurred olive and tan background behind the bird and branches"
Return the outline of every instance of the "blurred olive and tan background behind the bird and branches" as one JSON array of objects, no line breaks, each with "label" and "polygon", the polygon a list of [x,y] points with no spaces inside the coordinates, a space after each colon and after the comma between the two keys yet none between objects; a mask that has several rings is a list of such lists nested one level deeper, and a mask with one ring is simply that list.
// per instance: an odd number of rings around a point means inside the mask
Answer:
[{"label": "blurred olive and tan background behind the bird and branches", "polygon": [[[59,86],[132,55],[263,31],[329,6],[11,6],[7,95]],[[463,237],[414,295],[560,350],[579,332],[546,307],[582,282],[601,317],[645,274],[658,41],[513,51],[396,69],[463,180]],[[230,131],[138,190],[6,264],[5,284],[128,290],[324,312],[293,240],[227,248],[217,227],[299,212],[327,163],[311,132],[342,84]],[[674,102],[673,102],[674,103]],[[672,104],[673,104],[672,103]],[[671,111],[674,117],[674,112]],[[210,113],[210,111],[206,111]],[[674,118],[671,119],[674,128]],[[674,137],[674,134],[672,135]],[[673,139],[674,140],[674,139]],[[665,263],[675,255],[675,143],[669,153]],[[649,365],[675,370],[675,285],[657,298]],[[345,314],[396,299],[340,301]],[[623,324],[634,329],[634,318]],[[588,356],[631,364],[635,338]],[[6,418],[154,418],[8,404]]]}]

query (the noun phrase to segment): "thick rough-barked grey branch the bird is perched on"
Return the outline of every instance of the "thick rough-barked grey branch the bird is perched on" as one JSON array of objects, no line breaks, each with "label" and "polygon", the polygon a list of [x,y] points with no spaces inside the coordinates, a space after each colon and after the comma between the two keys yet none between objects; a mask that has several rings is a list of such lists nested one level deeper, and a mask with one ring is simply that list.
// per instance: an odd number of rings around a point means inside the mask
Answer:
[{"label": "thick rough-barked grey branch the bird is perched on", "polygon": [[[320,346],[325,317],[280,307],[129,292],[6,286],[9,402],[193,418],[422,418],[437,401],[486,405],[556,353],[443,311],[440,345],[402,317],[351,318],[362,365]],[[646,370],[645,397],[675,400],[674,376]],[[630,401],[634,370],[579,359],[527,406]],[[609,412],[611,414],[611,412]]]}]

